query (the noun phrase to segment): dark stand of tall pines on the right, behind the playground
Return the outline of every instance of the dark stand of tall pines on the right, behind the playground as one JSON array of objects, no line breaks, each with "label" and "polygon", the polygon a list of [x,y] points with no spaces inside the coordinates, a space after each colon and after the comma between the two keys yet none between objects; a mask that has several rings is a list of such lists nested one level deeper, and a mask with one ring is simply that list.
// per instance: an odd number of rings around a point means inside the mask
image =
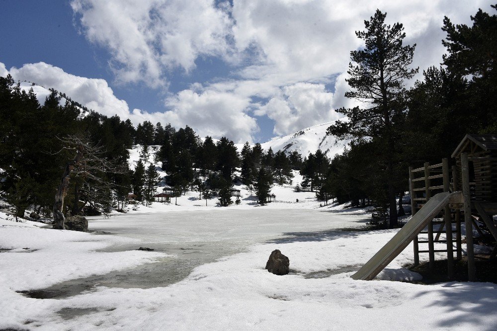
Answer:
[{"label": "dark stand of tall pines on the right, behind the playground", "polygon": [[409,165],[450,159],[466,134],[497,134],[497,16],[480,9],[469,26],[445,17],[443,63],[409,89],[415,45],[404,45],[402,24],[386,25],[385,16],[378,10],[356,32],[365,48],[351,52],[345,96],[369,106],[340,109],[349,121],[329,128],[352,144],[331,161],[325,190],[340,202],[370,199],[374,222],[395,227]]}]

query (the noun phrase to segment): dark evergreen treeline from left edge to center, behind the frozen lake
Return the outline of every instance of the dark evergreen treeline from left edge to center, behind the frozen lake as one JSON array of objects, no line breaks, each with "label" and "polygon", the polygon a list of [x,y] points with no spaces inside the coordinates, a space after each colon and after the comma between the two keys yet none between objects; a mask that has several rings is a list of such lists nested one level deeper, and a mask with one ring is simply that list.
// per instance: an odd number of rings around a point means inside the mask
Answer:
[{"label": "dark evergreen treeline from left edge to center, behind the frozen lake", "polygon": [[[263,151],[260,144],[246,143],[239,153],[228,138],[202,140],[188,126],[176,130],[145,121],[135,129],[129,119],[98,114],[50,91],[41,105],[32,88],[26,92],[10,76],[0,77],[0,197],[17,217],[26,209],[34,209],[34,216],[51,216],[64,168],[75,158],[76,141],[98,152],[71,171],[65,215],[123,210],[130,193],[148,204],[161,181],[174,194],[190,189],[204,198],[217,195],[222,205],[232,202],[230,188],[242,181],[265,202],[273,182],[290,182],[291,170],[302,163],[296,152]],[[137,144],[140,161],[130,170],[128,149]],[[152,160],[151,146],[158,150]],[[164,178],[157,164],[166,171]],[[241,175],[235,175],[237,167]]]}]

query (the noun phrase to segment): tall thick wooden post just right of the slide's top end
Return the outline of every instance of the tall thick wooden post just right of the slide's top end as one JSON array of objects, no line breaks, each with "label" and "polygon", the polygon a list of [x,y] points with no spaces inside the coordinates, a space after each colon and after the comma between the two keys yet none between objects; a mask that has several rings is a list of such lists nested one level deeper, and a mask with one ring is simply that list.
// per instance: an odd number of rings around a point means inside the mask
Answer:
[{"label": "tall thick wooden post just right of the slide's top end", "polygon": [[463,178],[464,224],[466,226],[466,253],[468,255],[468,280],[476,280],[475,253],[473,250],[473,223],[471,218],[471,197],[469,189],[468,154],[461,154],[461,173]]}]

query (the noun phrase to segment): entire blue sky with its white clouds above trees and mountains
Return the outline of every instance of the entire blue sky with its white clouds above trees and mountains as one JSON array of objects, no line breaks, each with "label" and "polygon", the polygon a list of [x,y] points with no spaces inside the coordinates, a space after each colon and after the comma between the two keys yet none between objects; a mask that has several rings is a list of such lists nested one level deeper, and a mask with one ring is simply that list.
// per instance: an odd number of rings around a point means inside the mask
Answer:
[{"label": "entire blue sky with its white clouds above trees and mountains", "polygon": [[[0,0],[0,74],[135,124],[263,142],[353,105],[343,97],[349,52],[377,4],[352,2]],[[381,1],[380,9],[404,23],[422,71],[441,62],[444,15],[469,23],[491,3]]]}]

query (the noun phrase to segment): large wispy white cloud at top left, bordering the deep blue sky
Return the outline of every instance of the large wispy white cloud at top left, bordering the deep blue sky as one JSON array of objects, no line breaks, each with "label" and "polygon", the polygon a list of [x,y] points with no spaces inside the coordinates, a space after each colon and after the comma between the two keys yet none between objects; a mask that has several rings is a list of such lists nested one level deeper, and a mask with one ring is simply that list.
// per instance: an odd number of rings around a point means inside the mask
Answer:
[{"label": "large wispy white cloud at top left, bordering the deep blue sky", "polygon": [[198,0],[73,0],[86,38],[107,48],[118,81],[167,83],[166,72],[195,67],[200,55],[225,56],[232,24],[225,6]]}]

